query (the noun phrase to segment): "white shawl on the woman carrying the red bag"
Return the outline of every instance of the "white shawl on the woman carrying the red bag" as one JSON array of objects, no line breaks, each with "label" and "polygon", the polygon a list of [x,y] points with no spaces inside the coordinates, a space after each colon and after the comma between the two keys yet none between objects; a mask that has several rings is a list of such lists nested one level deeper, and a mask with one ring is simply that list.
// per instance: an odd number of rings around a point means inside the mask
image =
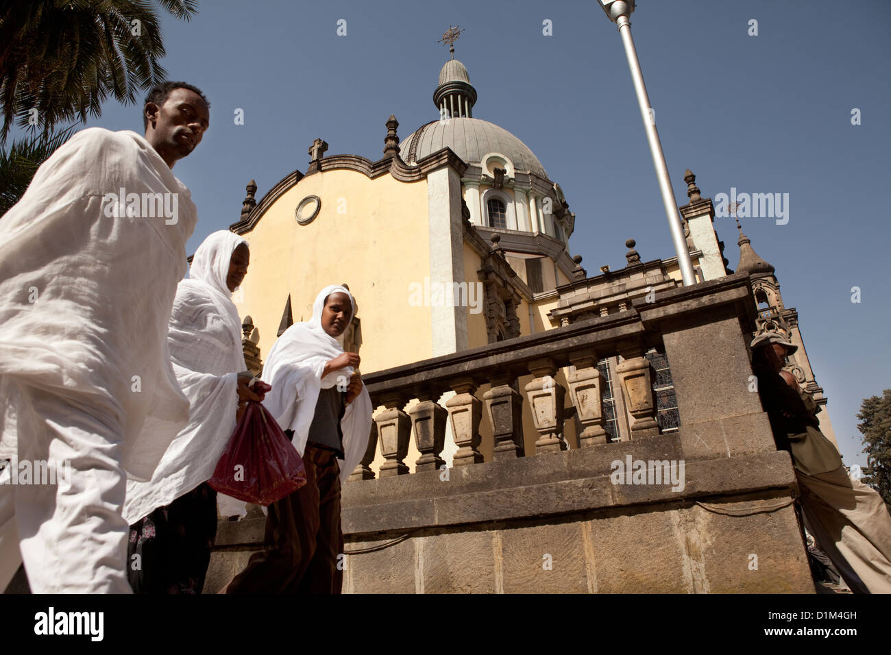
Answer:
[{"label": "white shawl on the woman carrying the red bag", "polygon": [[247,366],[241,319],[225,281],[240,243],[247,242],[227,230],[212,233],[195,250],[189,278],[179,282],[168,344],[176,380],[192,411],[151,481],[127,481],[123,512],[127,523],[210,479],[235,430],[237,376]]}]

